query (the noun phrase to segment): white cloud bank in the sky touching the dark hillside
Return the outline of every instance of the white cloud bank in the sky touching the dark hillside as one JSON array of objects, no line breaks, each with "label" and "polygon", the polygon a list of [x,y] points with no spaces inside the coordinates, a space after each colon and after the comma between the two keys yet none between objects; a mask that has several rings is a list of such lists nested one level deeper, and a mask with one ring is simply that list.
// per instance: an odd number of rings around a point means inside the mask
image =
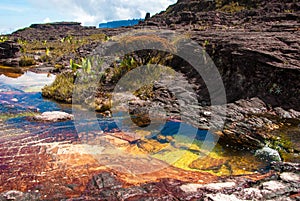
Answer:
[{"label": "white cloud bank in the sky touching the dark hillside", "polygon": [[83,25],[98,25],[100,22],[111,20],[144,18],[146,12],[154,15],[174,4],[176,0],[30,0],[30,2],[36,7],[59,12],[60,15],[66,16],[66,19],[79,21]]}]

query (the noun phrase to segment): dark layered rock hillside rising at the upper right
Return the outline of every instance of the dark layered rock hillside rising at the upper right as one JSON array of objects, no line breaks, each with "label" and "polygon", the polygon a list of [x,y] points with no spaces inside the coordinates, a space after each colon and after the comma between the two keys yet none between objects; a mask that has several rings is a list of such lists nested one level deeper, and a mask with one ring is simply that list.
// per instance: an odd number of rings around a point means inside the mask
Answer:
[{"label": "dark layered rock hillside rising at the upper right", "polygon": [[203,46],[222,75],[229,102],[256,96],[300,110],[299,7],[291,0],[183,0],[143,26],[187,32]]}]

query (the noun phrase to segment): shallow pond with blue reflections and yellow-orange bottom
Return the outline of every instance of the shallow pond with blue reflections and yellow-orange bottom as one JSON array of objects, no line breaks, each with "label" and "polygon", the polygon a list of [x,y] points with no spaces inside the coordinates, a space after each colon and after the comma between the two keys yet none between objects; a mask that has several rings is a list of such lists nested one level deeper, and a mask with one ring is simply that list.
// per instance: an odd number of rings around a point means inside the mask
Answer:
[{"label": "shallow pond with blue reflections and yellow-orange bottom", "polygon": [[[51,84],[54,79],[53,75],[36,74],[29,71],[14,78],[7,77],[5,74],[0,75],[0,120],[5,125],[18,129],[8,130],[9,135],[7,132],[5,135],[2,134],[0,137],[2,143],[6,143],[5,140],[10,139],[6,138],[7,136],[18,138],[16,135],[22,136],[21,134],[29,133],[31,136],[39,136],[39,141],[49,143],[50,147],[56,146],[57,142],[69,143],[67,150],[71,150],[71,147],[77,146],[78,143],[85,144],[87,147],[95,146],[97,139],[101,138],[103,133],[116,137],[119,135],[119,127],[122,127],[122,132],[135,133],[140,138],[139,142],[125,143],[124,146],[121,146],[120,142],[118,142],[119,144],[110,144],[114,151],[119,150],[118,154],[126,157],[128,154],[147,156],[183,170],[205,171],[215,175],[251,174],[268,169],[267,162],[254,157],[254,154],[248,150],[234,151],[218,144],[211,144],[212,150],[207,146],[203,148],[203,142],[206,140],[214,143],[215,136],[179,121],[162,119],[161,122],[156,121],[159,123],[151,128],[141,128],[134,124],[126,127],[127,122],[130,122],[131,119],[122,111],[115,118],[103,118],[101,115],[97,115],[97,121],[85,119],[76,127],[73,121],[57,123],[32,121],[30,116],[44,111],[72,112],[70,105],[59,104],[41,96],[41,88],[45,84]],[[80,127],[84,128],[84,132],[80,131]],[[76,145],[72,144],[74,142]],[[147,164],[144,165],[147,166]]]}]

